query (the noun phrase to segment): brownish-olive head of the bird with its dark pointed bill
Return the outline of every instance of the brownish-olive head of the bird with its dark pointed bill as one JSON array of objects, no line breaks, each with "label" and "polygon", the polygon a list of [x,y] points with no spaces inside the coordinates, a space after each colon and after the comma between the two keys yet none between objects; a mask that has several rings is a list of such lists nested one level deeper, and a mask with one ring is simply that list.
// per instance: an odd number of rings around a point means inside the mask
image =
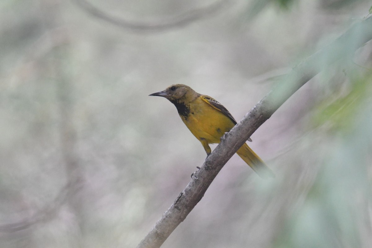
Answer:
[{"label": "brownish-olive head of the bird with its dark pointed bill", "polygon": [[187,102],[198,96],[192,88],[185,84],[173,84],[165,90],[150,94],[149,96],[162,96],[170,102]]}]

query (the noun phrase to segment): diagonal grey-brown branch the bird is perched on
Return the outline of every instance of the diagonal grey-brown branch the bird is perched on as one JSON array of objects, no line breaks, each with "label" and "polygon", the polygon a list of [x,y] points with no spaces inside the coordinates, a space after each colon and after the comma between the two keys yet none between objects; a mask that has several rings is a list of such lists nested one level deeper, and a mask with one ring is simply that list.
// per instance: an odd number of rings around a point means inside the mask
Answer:
[{"label": "diagonal grey-brown branch the bird is perched on", "polygon": [[155,226],[140,242],[137,248],[158,248],[186,218],[218,172],[232,155],[272,114],[307,81],[321,70],[341,58],[350,58],[356,49],[372,39],[372,17],[356,23],[330,45],[296,65],[260,102],[256,104],[221,143],[206,158],[196,177],[187,184],[174,203],[156,222]]}]

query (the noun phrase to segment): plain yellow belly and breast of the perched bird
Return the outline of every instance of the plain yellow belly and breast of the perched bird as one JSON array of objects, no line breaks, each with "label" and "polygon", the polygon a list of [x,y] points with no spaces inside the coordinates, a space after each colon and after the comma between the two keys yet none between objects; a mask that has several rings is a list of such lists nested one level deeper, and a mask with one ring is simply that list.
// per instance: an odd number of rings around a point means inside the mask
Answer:
[{"label": "plain yellow belly and breast of the perched bird", "polygon": [[219,143],[221,136],[235,125],[227,116],[203,101],[194,104],[189,116],[181,116],[181,119],[199,141],[205,139],[208,144]]}]

